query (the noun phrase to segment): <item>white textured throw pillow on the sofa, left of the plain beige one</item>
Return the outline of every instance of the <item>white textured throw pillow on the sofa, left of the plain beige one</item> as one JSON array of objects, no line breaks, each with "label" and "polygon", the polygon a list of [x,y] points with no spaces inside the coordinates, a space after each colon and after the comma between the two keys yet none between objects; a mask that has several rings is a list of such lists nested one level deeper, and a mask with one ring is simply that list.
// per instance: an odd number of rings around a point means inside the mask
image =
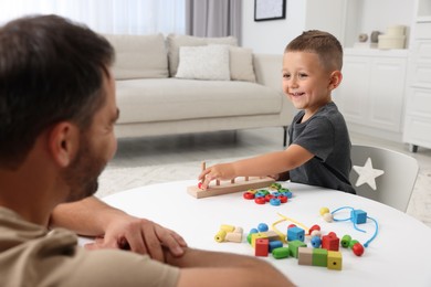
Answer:
[{"label": "white textured throw pillow on the sofa, left of the plain beige one", "polygon": [[230,81],[229,46],[181,46],[176,77]]}]

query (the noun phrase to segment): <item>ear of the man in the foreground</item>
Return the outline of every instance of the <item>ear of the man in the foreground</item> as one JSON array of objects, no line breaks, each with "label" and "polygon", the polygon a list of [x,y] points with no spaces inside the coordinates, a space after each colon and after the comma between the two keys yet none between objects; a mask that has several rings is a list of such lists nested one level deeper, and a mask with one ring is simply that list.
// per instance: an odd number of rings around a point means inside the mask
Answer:
[{"label": "ear of the man in the foreground", "polygon": [[80,148],[80,129],[69,121],[57,123],[49,134],[48,145],[53,160],[67,167]]}]

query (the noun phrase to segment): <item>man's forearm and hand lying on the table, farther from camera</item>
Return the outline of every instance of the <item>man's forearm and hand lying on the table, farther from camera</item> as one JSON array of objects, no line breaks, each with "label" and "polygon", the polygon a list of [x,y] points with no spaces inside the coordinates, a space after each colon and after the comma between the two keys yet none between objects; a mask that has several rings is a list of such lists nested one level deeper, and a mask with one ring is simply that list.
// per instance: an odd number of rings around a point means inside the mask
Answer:
[{"label": "man's forearm and hand lying on the table, farther from camera", "polygon": [[51,214],[50,227],[65,227],[80,235],[97,236],[90,249],[123,248],[148,254],[164,261],[162,247],[175,256],[183,253],[185,240],[157,223],[132,216],[95,196],[57,205]]}]

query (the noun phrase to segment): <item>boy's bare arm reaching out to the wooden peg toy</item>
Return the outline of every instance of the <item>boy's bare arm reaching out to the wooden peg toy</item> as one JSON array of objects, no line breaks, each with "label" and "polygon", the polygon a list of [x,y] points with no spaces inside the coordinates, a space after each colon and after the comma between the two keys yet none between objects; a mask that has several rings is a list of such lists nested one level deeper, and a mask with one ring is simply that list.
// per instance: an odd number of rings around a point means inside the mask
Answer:
[{"label": "boy's bare arm reaching out to the wooden peg toy", "polygon": [[313,157],[312,152],[293,144],[283,151],[209,167],[199,174],[199,180],[203,180],[202,189],[207,189],[208,184],[216,179],[230,180],[238,177],[278,174],[304,164]]}]

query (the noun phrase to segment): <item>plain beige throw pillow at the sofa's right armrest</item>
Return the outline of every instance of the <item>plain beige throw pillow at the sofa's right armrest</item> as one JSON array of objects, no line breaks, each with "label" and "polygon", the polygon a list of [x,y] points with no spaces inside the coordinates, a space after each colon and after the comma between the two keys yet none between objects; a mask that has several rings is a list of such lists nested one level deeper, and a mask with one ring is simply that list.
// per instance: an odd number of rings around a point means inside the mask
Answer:
[{"label": "plain beige throw pillow at the sofa's right armrest", "polygon": [[246,47],[230,46],[231,79],[256,82],[253,68],[253,51]]}]

